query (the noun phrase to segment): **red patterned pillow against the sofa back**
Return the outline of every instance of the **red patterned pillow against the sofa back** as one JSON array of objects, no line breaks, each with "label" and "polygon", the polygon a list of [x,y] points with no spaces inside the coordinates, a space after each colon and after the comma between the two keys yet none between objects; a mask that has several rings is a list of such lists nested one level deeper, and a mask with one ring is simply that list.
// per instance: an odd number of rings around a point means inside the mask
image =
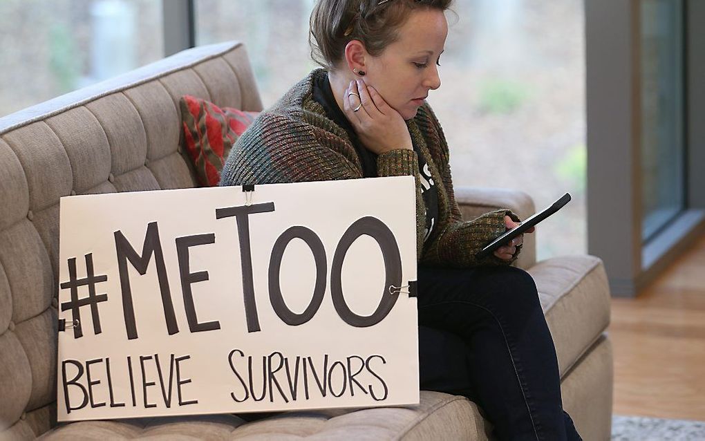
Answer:
[{"label": "red patterned pillow against the sofa back", "polygon": [[255,121],[257,111],[216,106],[205,99],[184,95],[179,100],[184,147],[201,186],[220,182],[223,164],[235,141]]}]

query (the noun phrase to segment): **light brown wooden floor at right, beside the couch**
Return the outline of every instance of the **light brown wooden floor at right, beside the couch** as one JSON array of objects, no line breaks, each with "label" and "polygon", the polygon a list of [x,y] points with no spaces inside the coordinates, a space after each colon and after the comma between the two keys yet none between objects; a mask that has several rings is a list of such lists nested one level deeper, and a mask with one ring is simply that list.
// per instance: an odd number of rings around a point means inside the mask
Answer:
[{"label": "light brown wooden floor at right, beside the couch", "polygon": [[614,413],[705,421],[705,236],[635,299],[613,298]]}]

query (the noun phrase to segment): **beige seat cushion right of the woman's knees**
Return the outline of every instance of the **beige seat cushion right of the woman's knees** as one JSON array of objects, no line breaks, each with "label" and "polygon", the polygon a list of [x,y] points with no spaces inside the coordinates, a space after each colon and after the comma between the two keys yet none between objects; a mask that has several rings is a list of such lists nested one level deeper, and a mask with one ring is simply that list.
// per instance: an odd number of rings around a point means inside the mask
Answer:
[{"label": "beige seat cushion right of the woman's knees", "polygon": [[556,344],[563,377],[610,322],[610,290],[602,261],[591,255],[543,260],[529,269]]}]

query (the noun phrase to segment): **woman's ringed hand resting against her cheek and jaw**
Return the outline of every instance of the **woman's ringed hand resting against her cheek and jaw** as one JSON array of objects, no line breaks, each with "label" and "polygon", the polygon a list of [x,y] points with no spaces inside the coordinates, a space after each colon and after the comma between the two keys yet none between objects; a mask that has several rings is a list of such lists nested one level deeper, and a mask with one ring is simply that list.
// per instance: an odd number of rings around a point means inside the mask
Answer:
[{"label": "woman's ringed hand resting against her cheek and jaw", "polygon": [[[361,103],[360,109],[355,111]],[[343,104],[345,116],[367,150],[381,155],[390,150],[413,148],[404,119],[374,87],[367,86],[362,80],[350,81]]]}]

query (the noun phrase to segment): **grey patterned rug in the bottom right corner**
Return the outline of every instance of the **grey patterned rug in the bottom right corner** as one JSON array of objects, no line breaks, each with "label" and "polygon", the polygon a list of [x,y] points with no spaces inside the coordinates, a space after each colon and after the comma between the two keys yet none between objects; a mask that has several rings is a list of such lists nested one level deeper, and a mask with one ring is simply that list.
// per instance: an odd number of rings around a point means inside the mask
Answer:
[{"label": "grey patterned rug in the bottom right corner", "polygon": [[612,417],[612,441],[703,441],[705,421]]}]

